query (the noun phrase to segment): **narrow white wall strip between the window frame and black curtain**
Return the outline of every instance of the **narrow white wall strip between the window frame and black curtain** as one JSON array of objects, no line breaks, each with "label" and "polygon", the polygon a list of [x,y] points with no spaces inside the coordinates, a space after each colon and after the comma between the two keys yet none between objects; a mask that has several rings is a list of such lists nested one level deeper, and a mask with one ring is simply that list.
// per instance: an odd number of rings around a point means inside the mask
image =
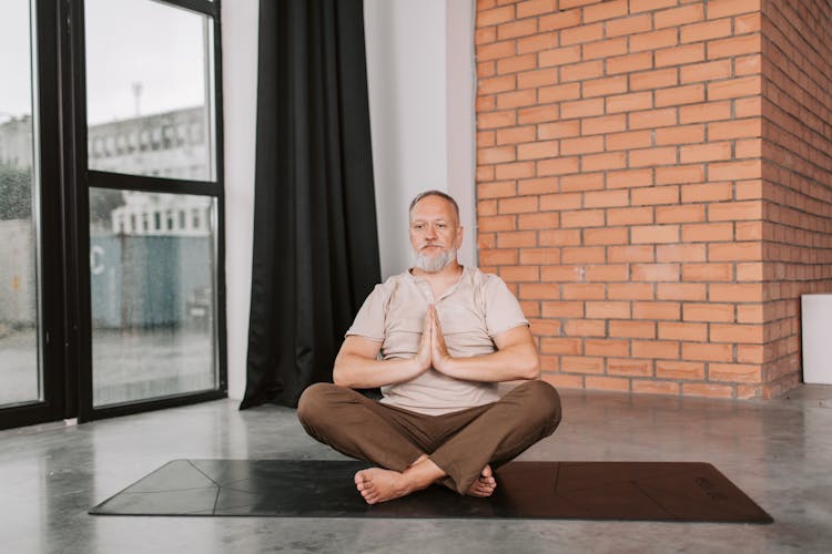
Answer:
[{"label": "narrow white wall strip between the window frame and black curtain", "polygon": [[252,288],[258,0],[222,3],[229,397],[245,392]]}]

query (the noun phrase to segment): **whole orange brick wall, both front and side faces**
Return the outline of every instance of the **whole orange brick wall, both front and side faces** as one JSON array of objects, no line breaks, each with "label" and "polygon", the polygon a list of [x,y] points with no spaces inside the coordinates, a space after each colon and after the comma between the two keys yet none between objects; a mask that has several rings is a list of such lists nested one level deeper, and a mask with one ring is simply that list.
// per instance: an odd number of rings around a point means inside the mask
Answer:
[{"label": "whole orange brick wall, both front and side faces", "polygon": [[761,0],[478,1],[479,265],[520,298],[547,380],[799,381],[798,297],[832,290],[819,1],[797,22]]}]

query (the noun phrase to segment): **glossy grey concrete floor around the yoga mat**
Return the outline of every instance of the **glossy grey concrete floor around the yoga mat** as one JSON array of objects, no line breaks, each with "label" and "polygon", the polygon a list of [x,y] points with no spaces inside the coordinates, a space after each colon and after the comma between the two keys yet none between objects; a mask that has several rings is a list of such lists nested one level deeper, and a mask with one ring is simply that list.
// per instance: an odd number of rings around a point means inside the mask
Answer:
[{"label": "glossy grey concrete floor around the yoga mat", "polygon": [[0,432],[0,551],[8,553],[830,552],[832,387],[731,402],[561,391],[564,422],[522,460],[707,461],[771,525],[521,520],[91,516],[177,458],[341,459],[294,410],[232,401],[75,427]]}]

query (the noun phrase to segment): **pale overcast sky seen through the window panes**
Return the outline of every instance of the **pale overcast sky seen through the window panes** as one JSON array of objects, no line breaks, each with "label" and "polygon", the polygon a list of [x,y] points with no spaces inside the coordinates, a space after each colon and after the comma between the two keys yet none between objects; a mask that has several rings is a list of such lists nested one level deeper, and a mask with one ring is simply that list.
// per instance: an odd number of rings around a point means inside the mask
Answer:
[{"label": "pale overcast sky seen through the window panes", "polygon": [[[0,122],[31,113],[29,0],[2,0]],[[201,14],[153,0],[85,0],[90,124],[204,103]]]}]

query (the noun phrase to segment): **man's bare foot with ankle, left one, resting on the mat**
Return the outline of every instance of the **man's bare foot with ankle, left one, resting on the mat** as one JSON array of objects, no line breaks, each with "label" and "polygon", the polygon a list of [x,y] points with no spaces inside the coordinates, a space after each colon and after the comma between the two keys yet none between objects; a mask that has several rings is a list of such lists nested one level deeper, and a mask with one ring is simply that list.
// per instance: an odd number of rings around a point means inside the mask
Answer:
[{"label": "man's bare foot with ankle, left one, resting on the mat", "polygon": [[445,472],[427,455],[423,455],[404,473],[382,468],[362,470],[355,474],[355,488],[358,489],[367,504],[377,504],[426,489],[430,483],[443,476],[445,476]]}]

